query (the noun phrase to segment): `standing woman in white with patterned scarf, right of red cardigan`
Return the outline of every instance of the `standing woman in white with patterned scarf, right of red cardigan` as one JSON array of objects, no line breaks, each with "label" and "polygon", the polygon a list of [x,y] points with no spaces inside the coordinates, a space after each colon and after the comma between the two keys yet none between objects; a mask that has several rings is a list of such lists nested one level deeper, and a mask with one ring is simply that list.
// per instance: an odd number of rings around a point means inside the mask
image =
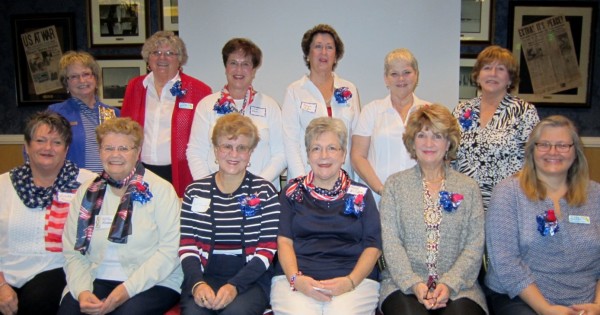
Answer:
[{"label": "standing woman in white with patterned scarf, right of red cardigan", "polygon": [[227,84],[220,92],[202,99],[196,108],[187,149],[192,176],[198,180],[218,170],[210,139],[212,129],[219,117],[238,112],[252,120],[260,135],[248,171],[270,181],[279,191],[279,175],[285,169],[281,109],[275,100],[252,87],[262,52],[249,39],[233,38],[221,53]]}]

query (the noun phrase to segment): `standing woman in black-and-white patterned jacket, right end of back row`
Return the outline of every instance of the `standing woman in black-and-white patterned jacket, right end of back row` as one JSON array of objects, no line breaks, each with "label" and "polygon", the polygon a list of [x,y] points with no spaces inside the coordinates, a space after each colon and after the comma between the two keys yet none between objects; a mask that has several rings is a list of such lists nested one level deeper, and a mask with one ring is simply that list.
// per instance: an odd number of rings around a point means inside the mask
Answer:
[{"label": "standing woman in black-and-white patterned jacket, right end of back row", "polygon": [[494,186],[523,166],[525,143],[539,118],[532,104],[510,94],[519,72],[509,50],[484,49],[472,76],[481,96],[454,109],[461,130],[455,167],[479,183],[487,209]]}]

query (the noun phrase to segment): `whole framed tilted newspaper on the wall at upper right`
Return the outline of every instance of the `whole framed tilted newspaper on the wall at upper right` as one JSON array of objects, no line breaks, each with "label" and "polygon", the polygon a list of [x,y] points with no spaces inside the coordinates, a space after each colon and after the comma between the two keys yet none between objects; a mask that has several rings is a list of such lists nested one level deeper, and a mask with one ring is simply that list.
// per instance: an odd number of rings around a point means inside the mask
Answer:
[{"label": "whole framed tilted newspaper on the wall at upper right", "polygon": [[597,2],[510,2],[509,45],[521,81],[514,94],[536,106],[589,107]]}]

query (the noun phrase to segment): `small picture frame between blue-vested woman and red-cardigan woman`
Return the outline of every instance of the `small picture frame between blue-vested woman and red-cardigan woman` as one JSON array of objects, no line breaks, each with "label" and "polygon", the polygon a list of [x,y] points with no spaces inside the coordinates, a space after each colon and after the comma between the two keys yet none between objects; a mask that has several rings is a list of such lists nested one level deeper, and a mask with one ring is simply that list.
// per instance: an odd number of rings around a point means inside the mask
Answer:
[{"label": "small picture frame between blue-vested woman and red-cardigan woman", "polygon": [[102,84],[98,86],[98,97],[106,105],[121,107],[129,80],[147,73],[146,62],[139,58],[116,57],[97,61],[102,76]]}]

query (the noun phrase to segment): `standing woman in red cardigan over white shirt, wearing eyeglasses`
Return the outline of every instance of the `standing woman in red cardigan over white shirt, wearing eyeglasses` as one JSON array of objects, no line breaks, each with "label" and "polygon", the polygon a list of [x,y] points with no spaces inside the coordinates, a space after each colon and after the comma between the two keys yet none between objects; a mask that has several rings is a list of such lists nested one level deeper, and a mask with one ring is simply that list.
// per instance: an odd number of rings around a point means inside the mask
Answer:
[{"label": "standing woman in red cardigan over white shirt, wearing eyeglasses", "polygon": [[151,72],[127,84],[121,114],[144,128],[144,166],[171,182],[181,197],[192,182],[186,149],[194,112],[211,89],[183,73],[188,54],[183,40],[173,32],[150,36],[142,57]]}]

